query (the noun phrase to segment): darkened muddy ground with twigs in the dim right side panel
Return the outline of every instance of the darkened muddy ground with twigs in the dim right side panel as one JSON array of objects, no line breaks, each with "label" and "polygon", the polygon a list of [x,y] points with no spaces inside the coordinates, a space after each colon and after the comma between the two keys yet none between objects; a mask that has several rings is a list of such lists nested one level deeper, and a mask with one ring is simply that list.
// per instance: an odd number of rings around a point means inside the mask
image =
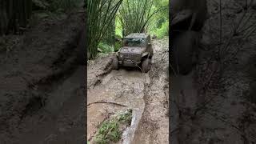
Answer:
[{"label": "darkened muddy ground with twigs in the dim right side panel", "polygon": [[246,38],[254,28],[250,25],[255,23],[256,13],[238,2],[242,1],[222,1],[222,42],[229,42],[221,47],[222,51],[228,47],[228,53],[222,53],[225,63],[215,58],[220,39],[219,4],[208,1],[210,18],[204,27],[205,47],[200,50],[198,66],[189,75],[170,76],[172,143],[256,142],[255,35]]}]

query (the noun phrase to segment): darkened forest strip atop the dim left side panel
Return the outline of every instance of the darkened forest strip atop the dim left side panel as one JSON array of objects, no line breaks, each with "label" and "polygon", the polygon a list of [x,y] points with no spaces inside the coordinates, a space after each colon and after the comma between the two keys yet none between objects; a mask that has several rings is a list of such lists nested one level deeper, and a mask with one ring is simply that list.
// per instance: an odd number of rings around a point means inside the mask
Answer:
[{"label": "darkened forest strip atop the dim left side panel", "polygon": [[0,35],[22,34],[33,25],[34,15],[45,18],[69,13],[82,5],[82,0],[2,0],[0,2]]}]

